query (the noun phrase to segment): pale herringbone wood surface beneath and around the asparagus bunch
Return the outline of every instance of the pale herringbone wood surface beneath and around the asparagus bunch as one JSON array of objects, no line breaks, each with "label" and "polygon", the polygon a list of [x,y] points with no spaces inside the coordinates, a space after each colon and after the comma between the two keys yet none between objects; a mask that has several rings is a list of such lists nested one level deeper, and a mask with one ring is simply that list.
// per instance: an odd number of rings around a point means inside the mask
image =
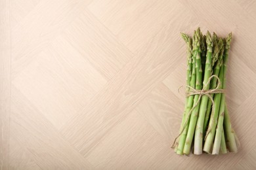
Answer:
[{"label": "pale herringbone wood surface beneath and around the asparagus bunch", "polygon": [[[1,169],[256,169],[256,1],[0,0]],[[186,44],[234,35],[237,154],[178,156]]]}]

